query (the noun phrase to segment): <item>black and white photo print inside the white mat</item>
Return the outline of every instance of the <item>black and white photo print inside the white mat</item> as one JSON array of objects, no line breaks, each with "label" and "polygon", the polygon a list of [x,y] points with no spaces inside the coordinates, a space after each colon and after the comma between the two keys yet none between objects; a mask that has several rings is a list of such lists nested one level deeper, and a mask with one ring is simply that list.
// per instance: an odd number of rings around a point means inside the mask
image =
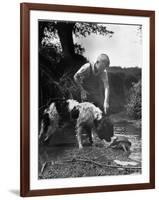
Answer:
[{"label": "black and white photo print inside the white mat", "polygon": [[38,179],[142,174],[142,24],[38,20]]}]

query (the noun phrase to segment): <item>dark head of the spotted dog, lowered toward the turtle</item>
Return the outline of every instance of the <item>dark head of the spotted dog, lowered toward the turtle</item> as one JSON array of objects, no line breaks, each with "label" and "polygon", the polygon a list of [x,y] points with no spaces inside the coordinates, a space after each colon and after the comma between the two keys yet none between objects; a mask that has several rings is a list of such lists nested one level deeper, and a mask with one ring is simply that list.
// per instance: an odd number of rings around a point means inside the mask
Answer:
[{"label": "dark head of the spotted dog, lowered toward the turtle", "polygon": [[111,142],[111,137],[114,135],[113,124],[108,117],[103,117],[97,124],[97,134],[100,139]]}]

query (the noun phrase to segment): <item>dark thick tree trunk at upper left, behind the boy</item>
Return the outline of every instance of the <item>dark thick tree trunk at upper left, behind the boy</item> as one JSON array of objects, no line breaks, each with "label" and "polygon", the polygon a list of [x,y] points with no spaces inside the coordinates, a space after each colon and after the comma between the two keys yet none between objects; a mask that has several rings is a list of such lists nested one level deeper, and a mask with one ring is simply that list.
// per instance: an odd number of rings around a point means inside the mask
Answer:
[{"label": "dark thick tree trunk at upper left, behind the boy", "polygon": [[66,22],[58,22],[56,25],[65,58],[72,58],[75,54],[72,36],[74,25],[75,23]]}]

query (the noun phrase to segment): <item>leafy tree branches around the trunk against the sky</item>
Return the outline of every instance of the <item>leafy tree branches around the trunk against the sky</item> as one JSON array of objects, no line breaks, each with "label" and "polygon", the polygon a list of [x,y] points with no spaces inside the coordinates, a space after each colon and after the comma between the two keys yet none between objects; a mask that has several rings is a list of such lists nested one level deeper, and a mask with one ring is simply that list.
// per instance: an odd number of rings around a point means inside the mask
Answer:
[{"label": "leafy tree branches around the trunk against the sky", "polygon": [[[97,23],[86,23],[86,22],[40,22],[39,24],[39,46],[43,47],[54,47],[57,49],[57,52],[62,54],[62,40],[59,33],[61,29],[64,29],[64,32],[68,32],[71,29],[71,34],[75,37],[86,37],[91,33],[100,34],[100,35],[109,35],[112,37],[113,31],[107,30],[107,27],[102,24]],[[62,32],[63,32],[62,31]],[[82,55],[84,48],[79,44],[74,45],[74,52],[76,54]]]}]

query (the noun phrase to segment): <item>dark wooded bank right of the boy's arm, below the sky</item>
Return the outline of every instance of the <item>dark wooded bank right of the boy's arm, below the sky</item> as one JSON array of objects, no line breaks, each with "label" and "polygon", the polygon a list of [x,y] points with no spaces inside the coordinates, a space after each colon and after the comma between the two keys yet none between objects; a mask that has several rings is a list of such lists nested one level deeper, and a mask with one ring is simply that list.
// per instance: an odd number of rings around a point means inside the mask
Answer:
[{"label": "dark wooded bank right of the boy's arm, below the sky", "polygon": [[121,68],[120,66],[113,66],[108,70],[108,78],[110,113],[117,113],[125,108],[131,87],[141,79],[141,69],[138,67]]}]

